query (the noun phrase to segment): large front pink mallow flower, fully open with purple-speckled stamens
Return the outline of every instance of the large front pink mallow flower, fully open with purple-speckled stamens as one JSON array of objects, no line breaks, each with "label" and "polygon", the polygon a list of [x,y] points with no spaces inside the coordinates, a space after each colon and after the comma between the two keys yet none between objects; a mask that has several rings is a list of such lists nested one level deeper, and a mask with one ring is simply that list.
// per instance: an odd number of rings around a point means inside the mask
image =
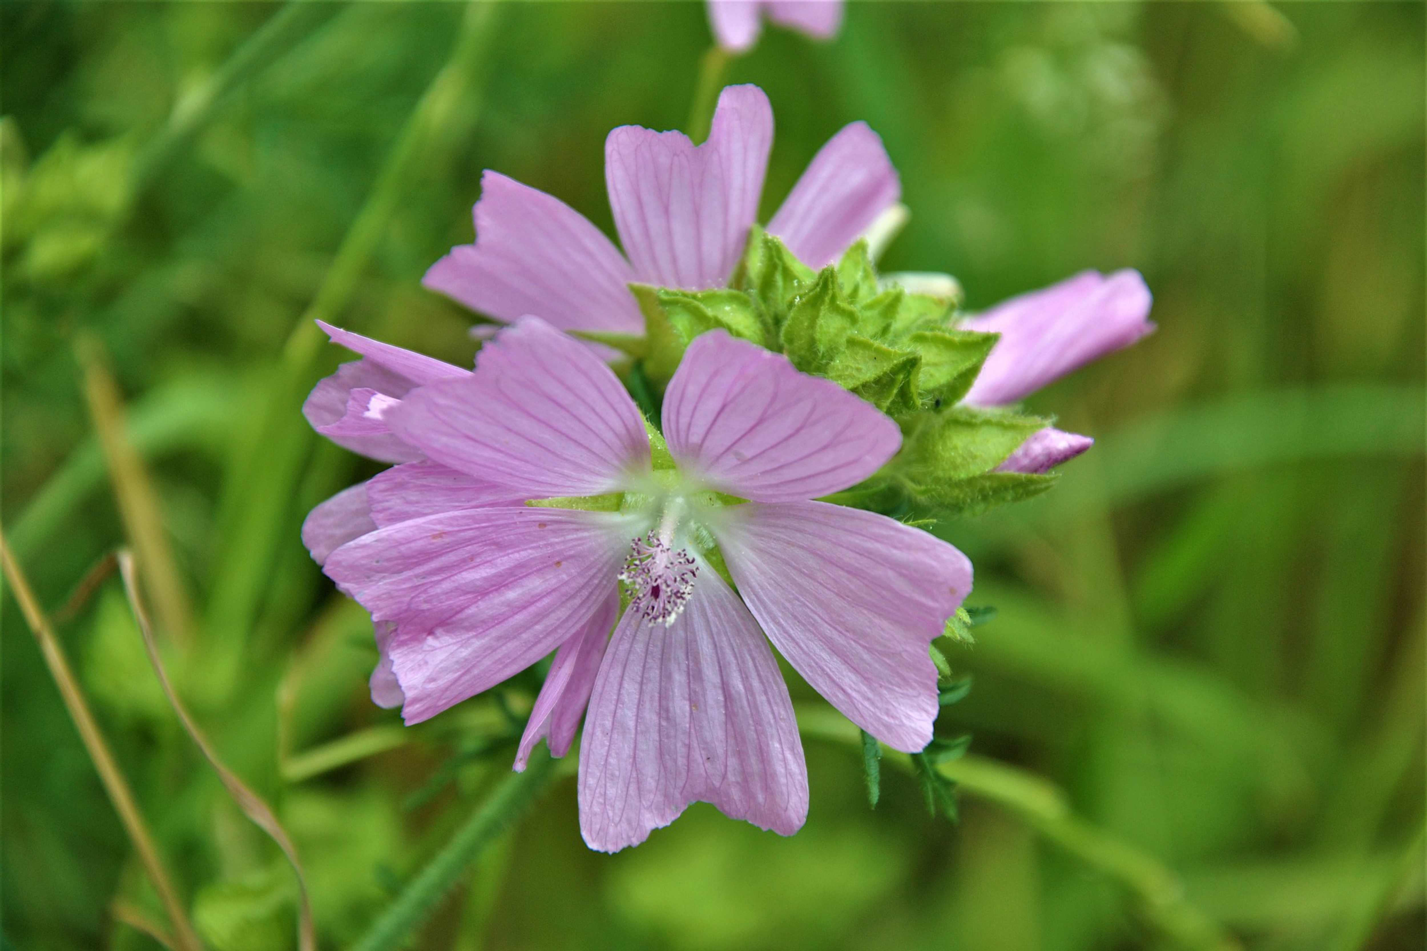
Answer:
[{"label": "large front pink mallow flower, fully open with purple-speckled stamens", "polygon": [[802,825],[806,765],[769,640],[873,737],[932,740],[928,645],[970,564],[919,528],[812,501],[898,451],[890,418],[723,331],[695,338],[669,381],[666,453],[598,356],[538,318],[452,370],[400,398],[352,391],[418,460],[304,527],[377,624],[378,703],[420,723],[555,651],[515,768],[541,738],[567,753],[584,718],[579,821],[602,851],[694,801]]}]

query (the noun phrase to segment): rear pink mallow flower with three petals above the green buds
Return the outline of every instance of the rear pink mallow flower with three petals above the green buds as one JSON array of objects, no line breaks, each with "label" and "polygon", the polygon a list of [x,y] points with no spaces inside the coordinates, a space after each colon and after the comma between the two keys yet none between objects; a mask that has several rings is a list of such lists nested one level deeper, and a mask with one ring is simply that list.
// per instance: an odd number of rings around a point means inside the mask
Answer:
[{"label": "rear pink mallow flower with three petals above the green buds", "polygon": [[[605,181],[624,254],[568,204],[487,171],[475,244],[451,248],[422,283],[501,321],[539,314],[559,330],[642,336],[631,283],[728,283],[756,221],[772,144],[773,111],[756,86],[722,91],[701,146],[678,131],[611,131]],[[768,230],[821,268],[899,196],[882,140],[852,123],[813,156]]]}]

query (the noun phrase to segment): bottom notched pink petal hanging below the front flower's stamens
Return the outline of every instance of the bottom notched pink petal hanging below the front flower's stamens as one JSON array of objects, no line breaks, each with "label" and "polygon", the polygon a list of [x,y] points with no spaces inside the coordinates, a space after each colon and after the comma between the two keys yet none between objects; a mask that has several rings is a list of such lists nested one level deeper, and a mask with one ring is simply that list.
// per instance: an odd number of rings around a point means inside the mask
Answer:
[{"label": "bottom notched pink petal hanging below the front flower's stamens", "polygon": [[778,661],[706,567],[674,624],[625,611],[615,628],[585,717],[579,828],[591,848],[614,852],[695,801],[782,835],[808,817],[808,770]]}]

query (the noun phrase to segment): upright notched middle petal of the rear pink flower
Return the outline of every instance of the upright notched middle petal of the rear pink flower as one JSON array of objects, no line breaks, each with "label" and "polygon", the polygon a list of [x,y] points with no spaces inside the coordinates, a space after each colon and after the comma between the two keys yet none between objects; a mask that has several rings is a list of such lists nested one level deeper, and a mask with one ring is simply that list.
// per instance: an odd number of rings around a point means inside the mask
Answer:
[{"label": "upright notched middle petal of the rear pink flower", "polygon": [[605,181],[625,254],[639,280],[722,287],[758,217],[773,111],[756,86],[729,86],[709,139],[621,126],[605,140]]}]

